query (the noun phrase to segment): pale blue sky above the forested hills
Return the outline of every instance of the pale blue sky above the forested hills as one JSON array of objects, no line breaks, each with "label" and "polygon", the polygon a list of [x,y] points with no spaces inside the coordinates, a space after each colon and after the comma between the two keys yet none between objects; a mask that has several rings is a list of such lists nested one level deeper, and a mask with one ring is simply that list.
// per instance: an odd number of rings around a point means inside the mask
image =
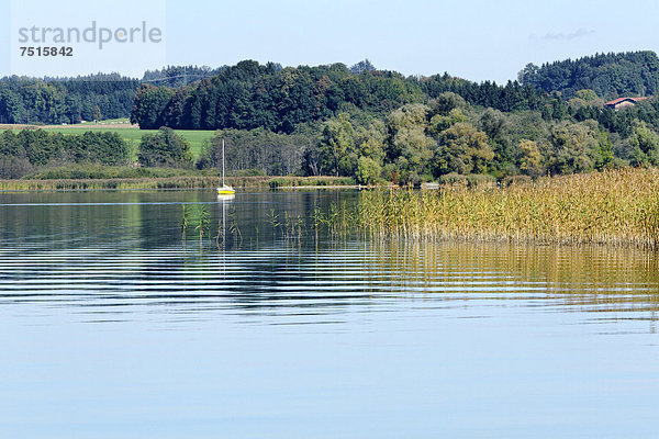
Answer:
[{"label": "pale blue sky above the forested hills", "polygon": [[[283,66],[368,58],[404,75],[445,71],[476,81],[515,79],[528,63],[602,52],[659,52],[659,2],[629,0],[0,0],[0,76],[76,76],[118,71],[142,77],[165,65]],[[91,3],[91,4],[90,4]],[[74,56],[21,57],[19,30],[77,27],[161,31],[158,43],[74,45]],[[66,45],[59,44],[58,46]]]}]

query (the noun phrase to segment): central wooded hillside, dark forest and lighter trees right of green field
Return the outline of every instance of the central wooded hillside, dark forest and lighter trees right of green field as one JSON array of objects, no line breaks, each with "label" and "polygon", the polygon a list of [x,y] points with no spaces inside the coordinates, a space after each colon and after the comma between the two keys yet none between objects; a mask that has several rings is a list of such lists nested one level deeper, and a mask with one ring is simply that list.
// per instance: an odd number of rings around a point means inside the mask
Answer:
[{"label": "central wooded hillside, dark forest and lighter trees right of green field", "polygon": [[220,130],[200,169],[215,166],[222,137],[230,170],[360,183],[659,164],[656,98],[614,111],[592,89],[566,100],[528,83],[355,71],[243,61],[188,87],[143,85],[132,117],[143,127]]}]

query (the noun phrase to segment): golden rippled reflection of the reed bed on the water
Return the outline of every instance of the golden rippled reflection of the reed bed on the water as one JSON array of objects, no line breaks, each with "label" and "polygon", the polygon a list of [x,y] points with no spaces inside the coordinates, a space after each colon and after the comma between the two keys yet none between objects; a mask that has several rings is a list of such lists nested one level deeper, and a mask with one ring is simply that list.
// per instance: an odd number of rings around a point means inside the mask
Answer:
[{"label": "golden rippled reflection of the reed bed on the water", "polygon": [[418,279],[418,288],[428,294],[456,299],[462,293],[465,301],[538,299],[537,305],[600,312],[657,311],[659,271],[650,252],[463,243],[378,247],[375,271]]}]

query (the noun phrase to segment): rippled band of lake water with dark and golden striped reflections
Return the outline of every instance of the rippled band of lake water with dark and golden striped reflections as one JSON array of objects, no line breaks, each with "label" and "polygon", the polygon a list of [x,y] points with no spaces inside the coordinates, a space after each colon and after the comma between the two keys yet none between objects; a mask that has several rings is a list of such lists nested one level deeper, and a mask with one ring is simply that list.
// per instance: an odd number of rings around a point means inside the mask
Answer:
[{"label": "rippled band of lake water with dark and golden striped reflections", "polygon": [[650,254],[455,243],[317,248],[286,239],[241,246],[230,232],[230,209],[222,205],[216,246],[203,236],[200,246],[188,238],[157,249],[135,249],[132,239],[33,251],[5,246],[0,302],[83,308],[91,320],[96,313],[102,319],[224,314],[250,323],[323,323],[375,309],[407,312],[415,303],[474,306],[483,316],[496,306],[657,317],[659,271]]}]

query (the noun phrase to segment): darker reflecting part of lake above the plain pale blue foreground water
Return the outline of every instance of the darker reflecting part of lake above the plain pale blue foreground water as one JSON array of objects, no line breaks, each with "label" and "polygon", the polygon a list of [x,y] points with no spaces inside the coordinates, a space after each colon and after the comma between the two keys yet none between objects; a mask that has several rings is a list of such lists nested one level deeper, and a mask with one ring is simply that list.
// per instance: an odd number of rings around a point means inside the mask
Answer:
[{"label": "darker reflecting part of lake above the plain pale blue foreground water", "polygon": [[656,320],[654,254],[319,235],[310,217],[337,196],[349,203],[358,194],[3,195],[0,300],[124,316],[148,309],[333,319],[405,301],[478,301]]}]

